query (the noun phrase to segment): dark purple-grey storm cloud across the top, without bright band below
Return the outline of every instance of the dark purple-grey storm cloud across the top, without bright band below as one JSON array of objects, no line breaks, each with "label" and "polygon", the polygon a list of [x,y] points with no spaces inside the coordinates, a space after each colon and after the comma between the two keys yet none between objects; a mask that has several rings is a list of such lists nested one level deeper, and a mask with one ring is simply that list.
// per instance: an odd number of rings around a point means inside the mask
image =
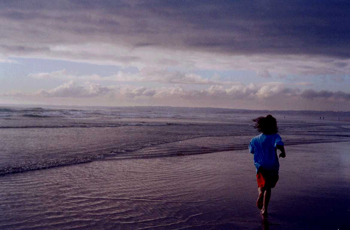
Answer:
[{"label": "dark purple-grey storm cloud across the top, without bright band below", "polygon": [[98,41],[215,53],[350,58],[349,7],[349,1],[310,0],[1,1],[0,42]]}]

